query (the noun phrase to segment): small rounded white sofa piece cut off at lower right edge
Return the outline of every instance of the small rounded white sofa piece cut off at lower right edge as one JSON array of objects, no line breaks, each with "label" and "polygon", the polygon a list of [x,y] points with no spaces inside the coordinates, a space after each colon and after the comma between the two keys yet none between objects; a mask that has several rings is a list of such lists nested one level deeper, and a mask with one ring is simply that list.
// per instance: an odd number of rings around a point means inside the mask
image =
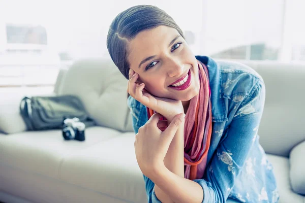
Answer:
[{"label": "small rounded white sofa piece cut off at lower right edge", "polygon": [[305,194],[305,141],[295,146],[290,152],[290,181],[292,189]]}]

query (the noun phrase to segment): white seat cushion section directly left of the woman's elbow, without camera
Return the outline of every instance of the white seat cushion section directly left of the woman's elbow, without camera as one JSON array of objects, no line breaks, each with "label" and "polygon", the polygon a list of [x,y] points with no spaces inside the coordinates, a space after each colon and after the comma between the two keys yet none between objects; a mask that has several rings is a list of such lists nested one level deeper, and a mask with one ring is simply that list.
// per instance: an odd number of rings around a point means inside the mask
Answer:
[{"label": "white seat cushion section directly left of the woman's elbow, without camera", "polygon": [[[60,178],[113,198],[147,202],[142,172],[134,152],[134,132],[79,150],[66,157]],[[103,199],[101,199],[101,202]]]}]

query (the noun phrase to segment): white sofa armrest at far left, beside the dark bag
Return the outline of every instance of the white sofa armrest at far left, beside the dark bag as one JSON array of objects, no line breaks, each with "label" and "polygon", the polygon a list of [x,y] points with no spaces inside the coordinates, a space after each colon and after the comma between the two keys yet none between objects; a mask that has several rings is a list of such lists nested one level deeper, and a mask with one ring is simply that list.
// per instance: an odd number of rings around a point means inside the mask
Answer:
[{"label": "white sofa armrest at far left, beside the dark bag", "polygon": [[[52,96],[54,93],[41,94],[40,96]],[[0,132],[12,134],[25,131],[26,125],[20,114],[20,102],[24,93],[0,94]],[[32,96],[32,95],[30,95]],[[36,96],[36,95],[33,95]]]}]

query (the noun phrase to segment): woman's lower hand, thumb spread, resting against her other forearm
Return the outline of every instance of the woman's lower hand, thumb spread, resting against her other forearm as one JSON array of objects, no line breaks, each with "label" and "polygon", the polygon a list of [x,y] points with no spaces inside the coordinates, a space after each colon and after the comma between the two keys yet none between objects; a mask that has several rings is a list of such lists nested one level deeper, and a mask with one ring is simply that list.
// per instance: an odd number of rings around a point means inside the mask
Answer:
[{"label": "woman's lower hand, thumb spread, resting against her other forearm", "polygon": [[185,114],[176,115],[163,132],[157,126],[160,116],[154,114],[139,128],[134,143],[138,165],[148,178],[156,176],[164,166],[164,157],[178,127],[184,123]]}]

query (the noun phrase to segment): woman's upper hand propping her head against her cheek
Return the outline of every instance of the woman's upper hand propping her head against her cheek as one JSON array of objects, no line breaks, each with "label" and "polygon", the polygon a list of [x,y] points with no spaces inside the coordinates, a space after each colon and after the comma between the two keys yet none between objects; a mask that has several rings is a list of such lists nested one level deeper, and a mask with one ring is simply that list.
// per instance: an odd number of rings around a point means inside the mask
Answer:
[{"label": "woman's upper hand propping her head against her cheek", "polygon": [[144,89],[145,84],[139,84],[137,79],[139,75],[134,73],[132,69],[129,74],[128,88],[127,92],[138,100],[140,103],[152,109],[162,116],[164,116],[169,122],[174,118],[175,115],[184,113],[184,109],[181,101],[157,97],[150,94],[146,89]]}]

